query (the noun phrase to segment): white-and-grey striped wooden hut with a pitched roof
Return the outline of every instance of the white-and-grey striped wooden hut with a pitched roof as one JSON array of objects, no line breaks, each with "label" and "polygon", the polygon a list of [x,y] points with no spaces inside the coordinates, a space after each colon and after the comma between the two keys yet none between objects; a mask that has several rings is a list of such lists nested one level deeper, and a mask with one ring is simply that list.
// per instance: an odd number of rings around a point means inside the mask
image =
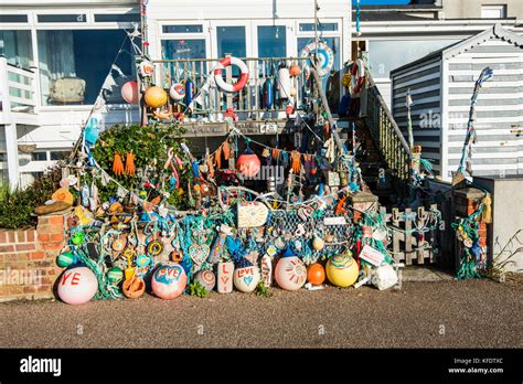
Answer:
[{"label": "white-and-grey striped wooden hut with a pitched roof", "polygon": [[473,174],[523,174],[523,38],[498,24],[391,72],[394,118],[406,137],[410,89],[415,145],[444,180],[458,168],[470,98],[487,66],[494,76],[478,97]]}]

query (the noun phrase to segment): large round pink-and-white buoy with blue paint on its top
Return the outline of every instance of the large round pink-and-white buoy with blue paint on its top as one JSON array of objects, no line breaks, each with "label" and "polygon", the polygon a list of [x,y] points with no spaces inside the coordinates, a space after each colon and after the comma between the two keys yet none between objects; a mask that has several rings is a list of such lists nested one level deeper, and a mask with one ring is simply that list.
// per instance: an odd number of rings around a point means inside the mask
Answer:
[{"label": "large round pink-and-white buoy with blue paint on its top", "polygon": [[152,276],[151,287],[156,296],[161,299],[175,299],[183,294],[188,284],[188,276],[180,265],[164,265],[159,267]]}]

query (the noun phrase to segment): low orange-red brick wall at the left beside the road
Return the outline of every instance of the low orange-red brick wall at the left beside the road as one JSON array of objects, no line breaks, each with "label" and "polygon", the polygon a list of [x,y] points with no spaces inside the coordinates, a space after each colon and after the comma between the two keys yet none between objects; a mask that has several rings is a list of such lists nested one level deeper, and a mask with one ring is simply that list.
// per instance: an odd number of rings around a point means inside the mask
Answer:
[{"label": "low orange-red brick wall at the left beside the road", "polygon": [[40,216],[35,230],[0,230],[0,301],[53,297],[62,271],[65,215]]}]

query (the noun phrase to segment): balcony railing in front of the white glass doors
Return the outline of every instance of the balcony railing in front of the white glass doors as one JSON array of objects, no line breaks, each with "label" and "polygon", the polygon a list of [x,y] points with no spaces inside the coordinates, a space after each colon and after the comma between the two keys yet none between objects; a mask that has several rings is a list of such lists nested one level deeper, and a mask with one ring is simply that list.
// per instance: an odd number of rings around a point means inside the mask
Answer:
[{"label": "balcony railing in front of the white glass doors", "polygon": [[[210,81],[210,88],[203,95],[203,105],[196,105],[192,110],[193,115],[223,114],[227,108],[234,108],[241,118],[267,118],[277,117],[278,113],[285,111],[287,104],[302,100],[306,93],[306,83],[308,81],[305,71],[307,58],[303,57],[241,57],[249,71],[247,85],[238,93],[228,94],[222,92],[213,81]],[[201,89],[202,86],[213,76],[213,68],[218,58],[189,58],[189,60],[158,60],[154,61],[157,67],[157,84],[169,88],[173,83],[182,83],[191,79],[194,83],[194,89]],[[274,104],[267,108],[263,102],[263,87],[266,79],[273,81],[273,86],[278,86],[278,66],[287,62],[299,65],[301,72],[299,76],[291,77],[291,88],[296,89],[296,95],[285,95],[279,97],[279,90],[275,89]],[[239,77],[236,67],[227,67],[225,71],[225,81],[234,84]],[[196,96],[196,95],[194,95]]]}]

